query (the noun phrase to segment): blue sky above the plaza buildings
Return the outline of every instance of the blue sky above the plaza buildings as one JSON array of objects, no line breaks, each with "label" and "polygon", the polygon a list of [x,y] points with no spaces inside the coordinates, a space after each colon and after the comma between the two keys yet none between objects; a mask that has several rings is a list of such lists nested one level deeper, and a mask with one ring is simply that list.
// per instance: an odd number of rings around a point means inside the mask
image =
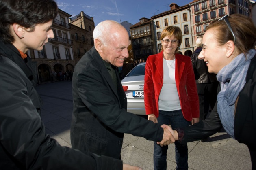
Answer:
[{"label": "blue sky above the plaza buildings", "polygon": [[154,15],[170,10],[169,5],[189,4],[193,0],[55,0],[59,9],[72,15],[84,11],[93,17],[95,26],[104,20],[117,22],[127,21],[131,24],[139,22],[142,17],[151,18]]}]

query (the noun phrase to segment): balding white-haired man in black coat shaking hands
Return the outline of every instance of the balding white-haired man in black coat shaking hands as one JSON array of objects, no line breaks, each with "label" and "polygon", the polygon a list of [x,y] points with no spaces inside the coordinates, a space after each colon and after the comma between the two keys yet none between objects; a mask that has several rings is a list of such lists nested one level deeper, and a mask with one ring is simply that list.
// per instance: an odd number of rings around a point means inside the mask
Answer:
[{"label": "balding white-haired man in black coat shaking hands", "polygon": [[72,148],[121,159],[124,133],[169,144],[161,124],[126,111],[118,67],[129,57],[127,30],[116,21],[102,21],[95,27],[93,39],[94,46],[73,73]]}]

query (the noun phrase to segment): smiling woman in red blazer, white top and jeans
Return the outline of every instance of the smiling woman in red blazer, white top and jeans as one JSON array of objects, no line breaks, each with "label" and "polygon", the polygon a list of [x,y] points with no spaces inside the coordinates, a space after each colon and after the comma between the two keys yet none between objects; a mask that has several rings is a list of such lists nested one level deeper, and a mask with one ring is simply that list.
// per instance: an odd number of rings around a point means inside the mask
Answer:
[{"label": "smiling woman in red blazer, white top and jeans", "polygon": [[[199,100],[191,59],[178,54],[182,42],[179,27],[161,33],[162,51],[150,55],[145,66],[144,100],[148,120],[187,127],[199,121]],[[166,170],[167,146],[154,143],[154,170]],[[188,169],[187,143],[175,142],[177,170]]]}]

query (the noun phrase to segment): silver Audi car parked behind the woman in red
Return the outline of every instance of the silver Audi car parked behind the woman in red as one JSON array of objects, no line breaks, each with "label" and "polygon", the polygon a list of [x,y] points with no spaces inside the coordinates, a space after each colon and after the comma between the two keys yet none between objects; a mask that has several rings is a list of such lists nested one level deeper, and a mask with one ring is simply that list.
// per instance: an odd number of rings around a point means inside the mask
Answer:
[{"label": "silver Audi car parked behind the woman in red", "polygon": [[127,111],[136,115],[145,115],[144,75],[146,62],[135,66],[122,79],[121,83],[127,97]]}]

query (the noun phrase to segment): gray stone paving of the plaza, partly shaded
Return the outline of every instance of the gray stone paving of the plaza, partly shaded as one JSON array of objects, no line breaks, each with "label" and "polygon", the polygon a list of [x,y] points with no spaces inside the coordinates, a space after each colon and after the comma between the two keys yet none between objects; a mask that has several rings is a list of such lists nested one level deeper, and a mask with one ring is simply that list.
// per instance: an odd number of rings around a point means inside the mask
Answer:
[{"label": "gray stone paving of the plaza, partly shaded", "polygon": [[[71,81],[45,83],[36,87],[43,100],[42,120],[46,133],[62,146],[71,147],[70,123],[72,117]],[[140,166],[143,170],[153,170],[152,141],[142,137],[124,135],[121,157],[124,163]],[[210,136],[206,142],[188,143],[189,170],[250,170],[249,150],[230,138],[225,131]],[[74,158],[75,159],[75,158]],[[167,170],[175,170],[174,144],[169,145]]]}]

